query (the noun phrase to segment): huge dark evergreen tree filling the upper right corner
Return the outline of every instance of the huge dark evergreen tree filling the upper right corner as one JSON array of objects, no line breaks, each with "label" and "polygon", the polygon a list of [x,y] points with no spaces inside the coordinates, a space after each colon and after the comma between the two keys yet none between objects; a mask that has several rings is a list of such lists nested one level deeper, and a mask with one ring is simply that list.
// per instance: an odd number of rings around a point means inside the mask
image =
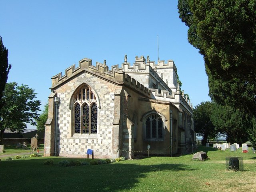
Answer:
[{"label": "huge dark evergreen tree filling the upper right corner", "polygon": [[211,98],[256,117],[256,1],[178,0],[178,9],[204,56]]}]

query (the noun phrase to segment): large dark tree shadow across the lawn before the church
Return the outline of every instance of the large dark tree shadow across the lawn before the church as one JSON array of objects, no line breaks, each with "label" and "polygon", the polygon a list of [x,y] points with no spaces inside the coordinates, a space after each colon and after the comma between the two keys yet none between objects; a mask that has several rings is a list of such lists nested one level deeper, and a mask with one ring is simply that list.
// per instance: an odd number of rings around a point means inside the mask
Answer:
[{"label": "large dark tree shadow across the lawn before the church", "polygon": [[[148,179],[148,174],[158,173],[154,182],[162,180],[168,172],[192,171],[186,164],[138,164],[134,162],[120,162],[95,166],[60,167],[46,166],[42,159],[12,160],[0,162],[1,188],[5,191],[111,191],[129,190]],[[62,160],[50,158],[55,161]],[[81,160],[81,159],[80,159]],[[87,161],[87,160],[86,160]],[[156,162],[157,163],[157,162]],[[58,163],[57,163],[58,164]],[[15,178],[15,182],[12,179]],[[22,186],[22,190],[20,190]],[[40,187],[37,187],[40,186]]]}]

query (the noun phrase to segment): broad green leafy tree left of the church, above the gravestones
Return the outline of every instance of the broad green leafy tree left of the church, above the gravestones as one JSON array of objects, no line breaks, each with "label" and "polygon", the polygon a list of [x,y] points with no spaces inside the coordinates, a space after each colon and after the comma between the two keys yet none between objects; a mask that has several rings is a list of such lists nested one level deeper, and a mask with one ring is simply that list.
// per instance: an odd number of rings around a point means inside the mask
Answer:
[{"label": "broad green leafy tree left of the church, above the gravestones", "polygon": [[2,97],[4,106],[0,109],[0,143],[6,128],[23,132],[27,127],[25,123],[36,125],[40,101],[34,100],[35,98],[36,93],[27,85],[18,86],[16,82],[6,83]]}]

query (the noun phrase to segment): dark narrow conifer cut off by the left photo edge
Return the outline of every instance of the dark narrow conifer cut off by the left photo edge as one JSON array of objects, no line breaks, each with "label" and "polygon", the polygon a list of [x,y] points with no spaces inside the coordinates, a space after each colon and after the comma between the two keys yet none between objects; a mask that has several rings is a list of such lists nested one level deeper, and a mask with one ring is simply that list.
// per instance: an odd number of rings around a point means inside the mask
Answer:
[{"label": "dark narrow conifer cut off by the left photo edge", "polygon": [[8,49],[3,45],[2,37],[0,36],[0,109],[4,104],[2,96],[10,69],[11,65],[8,64]]}]

